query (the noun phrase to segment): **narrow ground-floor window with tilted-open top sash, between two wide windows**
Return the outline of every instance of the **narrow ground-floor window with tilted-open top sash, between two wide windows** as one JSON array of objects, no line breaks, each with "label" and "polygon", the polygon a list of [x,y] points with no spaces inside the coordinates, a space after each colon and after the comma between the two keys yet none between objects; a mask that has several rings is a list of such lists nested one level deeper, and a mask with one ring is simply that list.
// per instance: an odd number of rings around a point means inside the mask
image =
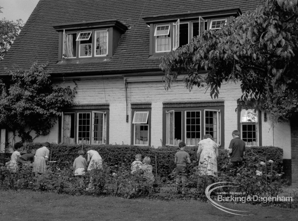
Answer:
[{"label": "narrow ground-floor window with tilted-open top sash, between two wide windows", "polygon": [[149,138],[149,111],[134,111],[134,145],[148,146]]}]

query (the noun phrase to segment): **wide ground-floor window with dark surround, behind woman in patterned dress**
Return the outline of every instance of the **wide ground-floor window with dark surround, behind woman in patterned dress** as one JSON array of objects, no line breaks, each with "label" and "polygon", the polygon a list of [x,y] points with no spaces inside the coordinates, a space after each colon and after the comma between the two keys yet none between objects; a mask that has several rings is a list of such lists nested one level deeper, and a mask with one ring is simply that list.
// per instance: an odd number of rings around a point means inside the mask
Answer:
[{"label": "wide ground-floor window with dark surround, behind woman in patterned dress", "polygon": [[218,145],[223,145],[223,111],[223,102],[164,103],[165,144],[178,146],[184,141],[187,146],[197,145],[209,133]]}]

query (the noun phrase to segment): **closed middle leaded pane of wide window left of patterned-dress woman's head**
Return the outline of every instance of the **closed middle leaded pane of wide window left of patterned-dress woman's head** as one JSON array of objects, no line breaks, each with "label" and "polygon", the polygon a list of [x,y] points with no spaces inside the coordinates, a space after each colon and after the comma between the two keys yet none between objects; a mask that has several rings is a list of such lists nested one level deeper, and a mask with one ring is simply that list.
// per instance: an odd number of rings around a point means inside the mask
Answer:
[{"label": "closed middle leaded pane of wide window left of patterned-dress woman's head", "polygon": [[200,111],[186,111],[186,145],[197,145],[201,138]]}]

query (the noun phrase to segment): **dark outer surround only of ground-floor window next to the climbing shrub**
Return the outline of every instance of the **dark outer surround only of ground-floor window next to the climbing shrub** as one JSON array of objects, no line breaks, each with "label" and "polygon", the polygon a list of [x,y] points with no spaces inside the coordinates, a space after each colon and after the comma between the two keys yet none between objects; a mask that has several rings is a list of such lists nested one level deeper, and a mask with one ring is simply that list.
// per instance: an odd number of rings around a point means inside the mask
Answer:
[{"label": "dark outer surround only of ground-floor window next to the climbing shrub", "polygon": [[[75,113],[75,143],[77,143],[77,113],[78,112],[90,112],[92,111],[100,111],[106,112],[106,144],[109,144],[109,119],[110,119],[110,109],[109,105],[77,105],[72,106],[69,109],[63,111],[63,113]],[[59,130],[58,130],[58,143],[62,142],[62,117],[59,117]],[[94,144],[95,145],[95,144]]]}]

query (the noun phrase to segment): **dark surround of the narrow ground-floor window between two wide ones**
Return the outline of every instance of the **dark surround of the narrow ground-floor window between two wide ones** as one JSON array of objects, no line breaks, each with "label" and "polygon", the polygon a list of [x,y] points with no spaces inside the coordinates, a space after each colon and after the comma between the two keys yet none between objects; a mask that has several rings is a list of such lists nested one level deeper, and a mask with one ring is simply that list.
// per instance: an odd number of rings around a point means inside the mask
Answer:
[{"label": "dark surround of the narrow ground-floor window between two wide ones", "polygon": [[[151,146],[151,103],[132,103],[131,104],[131,145],[134,145],[134,118],[135,111],[149,111],[148,115],[148,146]],[[136,145],[137,146],[137,145]]]}]

